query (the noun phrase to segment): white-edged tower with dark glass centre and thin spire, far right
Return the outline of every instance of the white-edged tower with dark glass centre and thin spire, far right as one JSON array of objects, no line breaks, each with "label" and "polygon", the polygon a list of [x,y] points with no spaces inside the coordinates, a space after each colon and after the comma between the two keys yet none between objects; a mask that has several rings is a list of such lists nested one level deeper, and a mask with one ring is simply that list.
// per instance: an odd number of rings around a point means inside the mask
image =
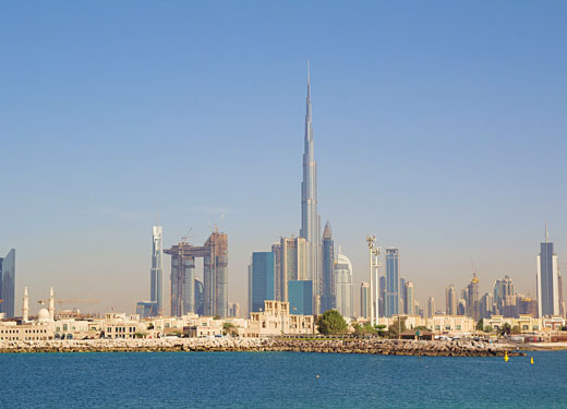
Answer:
[{"label": "white-edged tower with dark glass centre and thin spire, far right", "polygon": [[557,254],[550,243],[547,224],[545,224],[545,242],[541,243],[538,255],[538,311],[540,317],[559,315],[559,277],[557,272]]}]

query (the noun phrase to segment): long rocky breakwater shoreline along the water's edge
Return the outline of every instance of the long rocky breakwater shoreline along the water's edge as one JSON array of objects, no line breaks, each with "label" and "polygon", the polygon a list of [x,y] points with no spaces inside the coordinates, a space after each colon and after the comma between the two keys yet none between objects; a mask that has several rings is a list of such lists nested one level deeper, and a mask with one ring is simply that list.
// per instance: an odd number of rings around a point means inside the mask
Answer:
[{"label": "long rocky breakwater shoreline along the water's edge", "polygon": [[[519,348],[519,351],[517,350]],[[511,344],[469,340],[178,338],[0,341],[0,353],[68,352],[316,352],[423,357],[522,356]],[[565,346],[567,348],[567,345]],[[550,349],[533,349],[550,350]]]}]

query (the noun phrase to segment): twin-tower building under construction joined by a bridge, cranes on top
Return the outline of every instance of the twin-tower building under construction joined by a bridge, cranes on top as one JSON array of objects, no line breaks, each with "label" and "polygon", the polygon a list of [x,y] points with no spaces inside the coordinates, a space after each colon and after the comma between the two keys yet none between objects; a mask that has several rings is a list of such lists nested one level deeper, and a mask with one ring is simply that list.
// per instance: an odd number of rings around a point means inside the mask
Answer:
[{"label": "twin-tower building under construction joined by a bridge, cranes on top", "polygon": [[171,315],[196,313],[195,258],[204,258],[204,315],[228,315],[228,238],[214,231],[204,245],[181,241],[171,255]]}]

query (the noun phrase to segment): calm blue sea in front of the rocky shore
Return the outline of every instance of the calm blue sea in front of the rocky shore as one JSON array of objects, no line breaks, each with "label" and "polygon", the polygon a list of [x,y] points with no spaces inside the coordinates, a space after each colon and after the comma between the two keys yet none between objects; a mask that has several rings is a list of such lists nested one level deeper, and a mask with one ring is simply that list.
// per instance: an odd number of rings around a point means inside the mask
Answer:
[{"label": "calm blue sea in front of the rocky shore", "polygon": [[1,354],[0,408],[567,408],[567,352],[532,356]]}]

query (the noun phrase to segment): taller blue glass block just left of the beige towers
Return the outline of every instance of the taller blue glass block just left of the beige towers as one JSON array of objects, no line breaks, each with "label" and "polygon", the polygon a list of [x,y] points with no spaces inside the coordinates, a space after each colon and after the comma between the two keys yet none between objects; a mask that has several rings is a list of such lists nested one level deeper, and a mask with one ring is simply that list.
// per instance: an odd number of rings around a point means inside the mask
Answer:
[{"label": "taller blue glass block just left of the beige towers", "polygon": [[252,253],[252,312],[264,308],[264,301],[274,300],[274,253]]}]

